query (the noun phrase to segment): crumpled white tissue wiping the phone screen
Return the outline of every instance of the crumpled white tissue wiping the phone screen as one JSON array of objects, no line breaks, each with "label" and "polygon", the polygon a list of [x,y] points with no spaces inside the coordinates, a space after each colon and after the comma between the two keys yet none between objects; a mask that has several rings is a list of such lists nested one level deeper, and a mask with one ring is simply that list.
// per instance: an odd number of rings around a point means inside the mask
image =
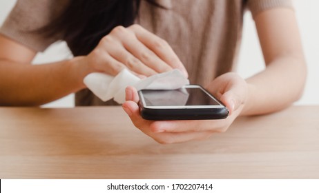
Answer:
[{"label": "crumpled white tissue wiping the phone screen", "polygon": [[125,102],[125,88],[128,85],[132,85],[137,90],[174,90],[189,84],[189,79],[186,79],[180,70],[171,70],[146,79],[139,79],[129,70],[124,69],[116,77],[99,72],[88,74],[84,78],[84,84],[102,101],[114,98],[121,104]]}]

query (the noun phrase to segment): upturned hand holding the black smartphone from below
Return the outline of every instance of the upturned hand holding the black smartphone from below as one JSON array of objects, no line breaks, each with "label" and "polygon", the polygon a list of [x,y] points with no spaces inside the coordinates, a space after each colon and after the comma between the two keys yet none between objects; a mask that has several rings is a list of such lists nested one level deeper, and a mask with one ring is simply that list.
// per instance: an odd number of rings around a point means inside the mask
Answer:
[{"label": "upturned hand holding the black smartphone from below", "polygon": [[229,109],[229,116],[220,120],[148,121],[139,114],[139,96],[133,87],[126,88],[124,111],[134,125],[158,143],[182,143],[207,139],[213,133],[225,132],[239,116],[248,98],[248,84],[233,72],[212,81],[207,90]]}]

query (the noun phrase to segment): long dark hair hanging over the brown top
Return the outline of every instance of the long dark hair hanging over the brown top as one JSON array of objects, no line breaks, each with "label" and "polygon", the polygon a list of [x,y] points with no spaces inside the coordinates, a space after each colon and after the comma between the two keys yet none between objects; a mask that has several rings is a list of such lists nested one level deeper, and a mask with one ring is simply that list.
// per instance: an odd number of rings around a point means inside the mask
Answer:
[{"label": "long dark hair hanging over the brown top", "polygon": [[40,32],[48,37],[62,33],[73,55],[86,55],[116,26],[131,26],[139,3],[140,0],[70,0],[65,10]]}]

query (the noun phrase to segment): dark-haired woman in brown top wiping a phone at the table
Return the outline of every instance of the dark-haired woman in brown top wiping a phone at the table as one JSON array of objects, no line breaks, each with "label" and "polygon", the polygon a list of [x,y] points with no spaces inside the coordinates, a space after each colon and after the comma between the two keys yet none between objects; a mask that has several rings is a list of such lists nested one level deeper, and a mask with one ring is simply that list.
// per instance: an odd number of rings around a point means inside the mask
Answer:
[{"label": "dark-haired woman in brown top wiping a phone at the table", "polygon": [[[266,68],[244,80],[231,71],[246,8]],[[238,116],[281,110],[300,98],[305,85],[305,59],[287,0],[18,1],[0,32],[2,105],[41,105],[71,92],[77,92],[77,105],[114,104],[93,96],[83,78],[123,68],[147,77],[177,68],[229,108],[230,116],[219,121],[146,121],[136,90],[128,87],[124,110],[160,143],[204,139],[226,131]],[[58,39],[66,40],[73,59],[28,65]]]}]

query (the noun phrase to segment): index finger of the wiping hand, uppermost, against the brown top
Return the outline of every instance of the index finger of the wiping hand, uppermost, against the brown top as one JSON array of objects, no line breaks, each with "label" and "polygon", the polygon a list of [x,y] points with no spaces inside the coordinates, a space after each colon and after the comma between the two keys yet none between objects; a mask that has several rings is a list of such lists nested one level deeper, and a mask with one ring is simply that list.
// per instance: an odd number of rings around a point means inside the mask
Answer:
[{"label": "index finger of the wiping hand, uppermost, against the brown top", "polygon": [[171,65],[172,68],[180,69],[186,77],[189,77],[182,61],[177,57],[173,49],[164,39],[157,37],[155,34],[148,32],[139,25],[133,25],[128,28],[135,33],[135,36],[139,41],[144,43],[150,50],[155,52],[164,62]]}]

